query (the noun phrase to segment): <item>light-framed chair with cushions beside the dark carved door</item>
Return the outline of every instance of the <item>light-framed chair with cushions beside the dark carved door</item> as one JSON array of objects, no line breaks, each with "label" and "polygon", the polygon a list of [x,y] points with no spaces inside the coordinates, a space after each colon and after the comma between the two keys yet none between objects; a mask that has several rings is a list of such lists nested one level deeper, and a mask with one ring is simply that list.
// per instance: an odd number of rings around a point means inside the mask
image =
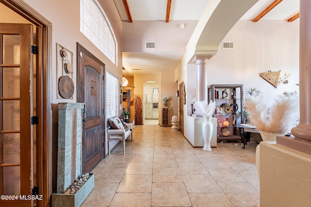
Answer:
[{"label": "light-framed chair with cushions beside the dark carved door", "polygon": [[131,137],[131,142],[133,140],[132,135],[132,124],[126,124],[127,128],[124,128],[121,119],[116,116],[114,118],[108,119],[110,128],[107,130],[108,134],[108,154],[110,155],[110,141],[117,140],[123,142],[123,155],[125,154],[125,140]]}]

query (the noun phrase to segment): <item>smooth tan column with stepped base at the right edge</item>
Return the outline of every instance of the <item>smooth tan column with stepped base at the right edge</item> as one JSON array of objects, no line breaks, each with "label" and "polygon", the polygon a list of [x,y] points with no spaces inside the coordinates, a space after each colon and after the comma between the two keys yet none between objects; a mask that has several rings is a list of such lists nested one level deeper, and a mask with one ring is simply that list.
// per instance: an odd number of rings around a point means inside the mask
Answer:
[{"label": "smooth tan column with stepped base at the right edge", "polygon": [[292,128],[295,138],[278,137],[276,143],[311,154],[311,1],[300,0],[299,106],[300,120]]}]

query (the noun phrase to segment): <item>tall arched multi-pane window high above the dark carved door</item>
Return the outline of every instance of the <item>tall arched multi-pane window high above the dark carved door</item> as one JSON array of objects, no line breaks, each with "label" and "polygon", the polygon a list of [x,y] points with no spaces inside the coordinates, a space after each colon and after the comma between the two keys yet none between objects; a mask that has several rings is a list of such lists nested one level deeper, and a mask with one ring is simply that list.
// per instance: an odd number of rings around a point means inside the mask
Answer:
[{"label": "tall arched multi-pane window high above the dark carved door", "polygon": [[112,63],[116,64],[116,41],[104,10],[97,0],[80,0],[80,31]]}]

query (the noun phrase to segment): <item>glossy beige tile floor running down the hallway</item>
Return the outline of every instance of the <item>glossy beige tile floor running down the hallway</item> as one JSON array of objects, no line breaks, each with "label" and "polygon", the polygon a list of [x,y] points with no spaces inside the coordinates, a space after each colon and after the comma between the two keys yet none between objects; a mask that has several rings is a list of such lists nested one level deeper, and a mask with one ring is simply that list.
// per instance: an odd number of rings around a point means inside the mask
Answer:
[{"label": "glossy beige tile floor running down the hallway", "polygon": [[92,171],[95,188],[82,207],[255,207],[256,146],[193,148],[178,131],[145,120]]}]

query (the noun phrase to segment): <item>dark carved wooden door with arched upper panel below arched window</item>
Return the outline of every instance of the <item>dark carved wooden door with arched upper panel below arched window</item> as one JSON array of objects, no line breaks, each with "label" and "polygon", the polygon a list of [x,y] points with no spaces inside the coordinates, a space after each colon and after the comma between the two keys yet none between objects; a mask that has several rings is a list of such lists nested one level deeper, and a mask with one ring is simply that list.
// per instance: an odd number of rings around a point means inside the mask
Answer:
[{"label": "dark carved wooden door with arched upper panel below arched window", "polygon": [[82,171],[89,172],[105,157],[104,64],[78,44],[78,102],[83,114]]}]

